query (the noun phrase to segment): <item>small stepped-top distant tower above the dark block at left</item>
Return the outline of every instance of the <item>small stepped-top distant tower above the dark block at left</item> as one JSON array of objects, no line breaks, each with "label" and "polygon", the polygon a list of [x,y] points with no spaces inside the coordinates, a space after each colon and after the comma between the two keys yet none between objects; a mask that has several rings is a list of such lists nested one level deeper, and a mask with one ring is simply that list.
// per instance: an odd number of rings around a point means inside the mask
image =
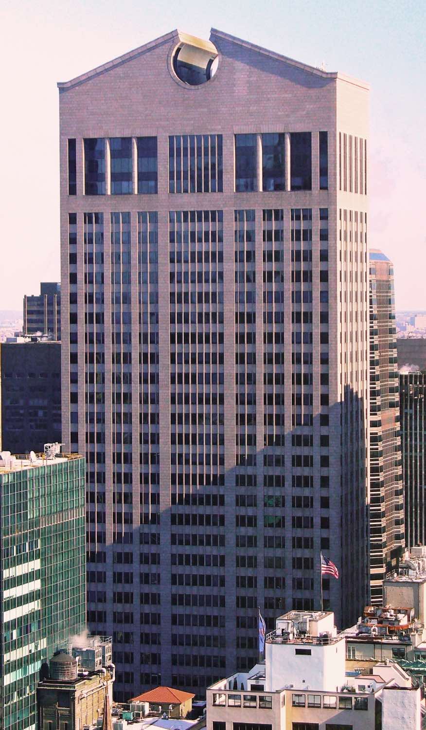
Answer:
[{"label": "small stepped-top distant tower above the dark block at left", "polygon": [[23,298],[23,334],[61,339],[61,284],[42,281],[39,295]]}]

